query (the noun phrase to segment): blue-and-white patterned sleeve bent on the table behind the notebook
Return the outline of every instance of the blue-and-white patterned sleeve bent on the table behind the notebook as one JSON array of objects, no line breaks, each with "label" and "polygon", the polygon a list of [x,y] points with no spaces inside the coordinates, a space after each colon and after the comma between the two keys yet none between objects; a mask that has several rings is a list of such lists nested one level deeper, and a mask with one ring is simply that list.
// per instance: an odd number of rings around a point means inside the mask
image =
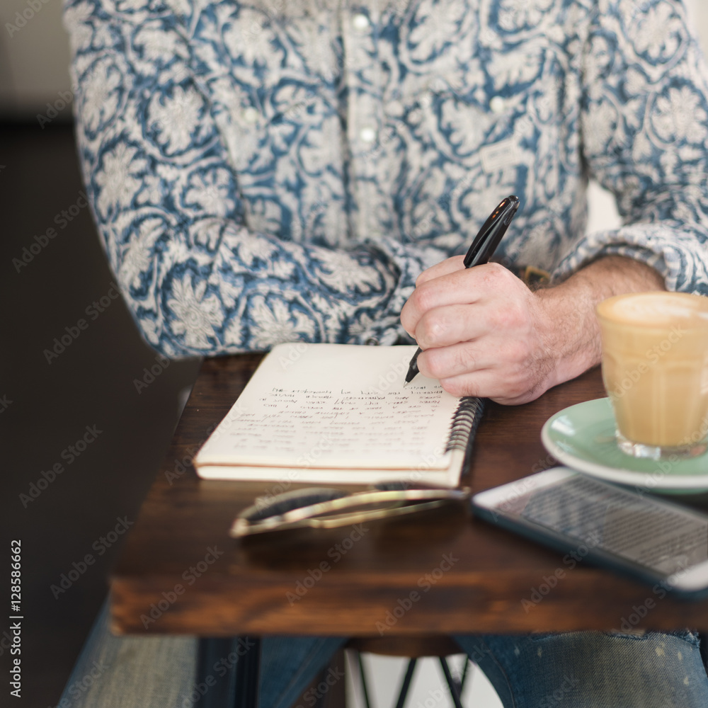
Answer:
[{"label": "blue-and-white patterned sleeve bent on the table behind the notebook", "polygon": [[86,191],[144,337],[171,357],[394,343],[416,277],[446,254],[389,241],[332,249],[249,229],[185,28],[166,6],[146,6],[67,0],[64,12]]}]

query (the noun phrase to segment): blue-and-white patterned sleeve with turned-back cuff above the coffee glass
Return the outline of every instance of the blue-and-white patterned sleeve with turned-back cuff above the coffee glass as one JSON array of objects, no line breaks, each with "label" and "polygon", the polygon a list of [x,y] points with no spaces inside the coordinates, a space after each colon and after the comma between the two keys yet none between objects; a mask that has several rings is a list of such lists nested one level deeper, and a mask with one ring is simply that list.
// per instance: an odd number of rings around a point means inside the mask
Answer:
[{"label": "blue-and-white patterned sleeve with turned-back cuff above the coffee glass", "polygon": [[708,83],[685,7],[600,0],[583,62],[583,154],[622,227],[579,239],[554,280],[617,254],[708,295]]}]

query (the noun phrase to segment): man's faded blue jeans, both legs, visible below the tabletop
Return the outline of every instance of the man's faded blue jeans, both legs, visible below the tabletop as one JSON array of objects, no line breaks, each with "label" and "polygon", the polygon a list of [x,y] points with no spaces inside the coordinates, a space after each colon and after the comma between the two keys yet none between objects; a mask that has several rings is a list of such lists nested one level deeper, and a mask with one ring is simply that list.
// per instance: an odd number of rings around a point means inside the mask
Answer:
[{"label": "man's faded blue jeans, both legs, visible below the tabletop", "polygon": [[[464,635],[457,643],[486,673],[504,708],[706,708],[708,677],[691,632]],[[343,637],[265,637],[261,708],[290,708]],[[232,666],[238,641],[216,663]],[[104,606],[59,708],[191,708],[197,641],[117,637]],[[329,680],[340,677],[331,675]],[[309,704],[307,704],[309,705]],[[302,707],[306,708],[306,707]]]}]

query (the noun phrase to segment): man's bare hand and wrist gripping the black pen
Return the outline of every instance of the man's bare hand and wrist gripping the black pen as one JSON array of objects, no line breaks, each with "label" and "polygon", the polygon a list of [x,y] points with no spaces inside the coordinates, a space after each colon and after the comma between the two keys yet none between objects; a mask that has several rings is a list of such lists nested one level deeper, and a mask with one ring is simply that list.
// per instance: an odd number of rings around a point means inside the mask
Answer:
[{"label": "man's bare hand and wrist gripping the black pen", "polygon": [[401,324],[423,349],[421,373],[446,391],[522,404],[597,365],[595,305],[643,290],[663,290],[661,276],[619,256],[535,292],[501,265],[465,269],[456,256],[421,273]]}]

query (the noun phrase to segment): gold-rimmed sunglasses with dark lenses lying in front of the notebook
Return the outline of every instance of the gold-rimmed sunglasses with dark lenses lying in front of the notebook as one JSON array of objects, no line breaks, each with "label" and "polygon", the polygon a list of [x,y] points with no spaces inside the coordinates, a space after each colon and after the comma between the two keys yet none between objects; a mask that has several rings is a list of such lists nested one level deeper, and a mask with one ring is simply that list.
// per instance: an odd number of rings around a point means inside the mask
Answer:
[{"label": "gold-rimmed sunglasses with dark lenses lying in front of the notebook", "polygon": [[411,489],[406,483],[377,484],[350,493],[343,489],[309,487],[285,492],[244,509],[234,520],[234,538],[288,529],[336,528],[373,519],[389,518],[433,509],[448,501],[469,498],[464,489]]}]

